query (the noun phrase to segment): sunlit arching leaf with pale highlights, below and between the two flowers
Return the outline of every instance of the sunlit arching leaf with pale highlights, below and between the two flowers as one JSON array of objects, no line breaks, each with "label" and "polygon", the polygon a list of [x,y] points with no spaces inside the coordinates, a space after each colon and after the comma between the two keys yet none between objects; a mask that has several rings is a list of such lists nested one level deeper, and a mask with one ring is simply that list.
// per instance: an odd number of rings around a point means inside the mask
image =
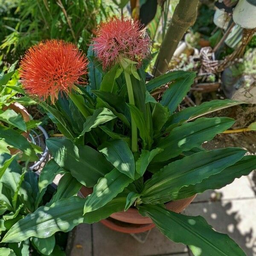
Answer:
[{"label": "sunlit arching leaf with pale highlights, below and between the two flowers", "polygon": [[116,116],[108,108],[98,108],[93,112],[92,116],[88,116],[84,123],[84,130],[81,132],[81,137],[86,132],[91,131],[92,128],[102,125],[105,122],[115,119]]}]

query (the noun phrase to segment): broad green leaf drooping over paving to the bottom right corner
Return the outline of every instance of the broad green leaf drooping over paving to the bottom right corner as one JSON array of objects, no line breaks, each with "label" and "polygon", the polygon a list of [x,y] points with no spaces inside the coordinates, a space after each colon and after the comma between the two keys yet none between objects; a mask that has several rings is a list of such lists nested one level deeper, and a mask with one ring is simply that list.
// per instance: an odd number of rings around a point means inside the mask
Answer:
[{"label": "broad green leaf drooping over paving to the bottom right corner", "polygon": [[229,236],[212,229],[201,216],[186,216],[160,205],[141,205],[140,214],[152,219],[170,240],[187,244],[195,256],[246,256]]}]

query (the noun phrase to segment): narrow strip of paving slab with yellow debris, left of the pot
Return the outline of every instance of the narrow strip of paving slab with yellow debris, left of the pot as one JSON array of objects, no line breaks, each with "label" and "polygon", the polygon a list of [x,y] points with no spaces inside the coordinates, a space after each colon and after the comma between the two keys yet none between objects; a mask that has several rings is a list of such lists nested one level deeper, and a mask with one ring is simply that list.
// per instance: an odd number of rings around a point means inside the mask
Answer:
[{"label": "narrow strip of paving slab with yellow debris, left of the pot", "polygon": [[91,225],[79,224],[69,234],[67,256],[91,256],[92,236]]}]

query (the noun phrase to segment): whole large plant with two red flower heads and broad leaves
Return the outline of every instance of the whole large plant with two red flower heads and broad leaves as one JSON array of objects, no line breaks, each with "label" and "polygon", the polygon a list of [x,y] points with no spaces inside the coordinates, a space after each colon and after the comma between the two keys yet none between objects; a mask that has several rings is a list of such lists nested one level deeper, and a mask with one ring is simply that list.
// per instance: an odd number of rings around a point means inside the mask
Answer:
[{"label": "whole large plant with two red flower heads and broad leaves", "polygon": [[[138,21],[114,18],[99,27],[88,61],[63,41],[29,49],[20,66],[24,88],[12,88],[31,95],[65,136],[47,140],[53,160],[43,173],[68,173],[80,186],[65,182],[74,196],[39,207],[13,225],[2,242],[48,239],[133,208],[195,255],[245,255],[204,218],[177,213],[197,193],[254,169],[256,157],[244,156],[241,148],[201,147],[235,122],[201,116],[242,102],[214,100],[176,112],[195,73],[174,71],[145,83],[149,46]],[[151,96],[165,84],[161,99]],[[86,198],[75,196],[82,185],[93,188]],[[183,199],[186,204],[177,212],[167,209],[169,202]]]}]

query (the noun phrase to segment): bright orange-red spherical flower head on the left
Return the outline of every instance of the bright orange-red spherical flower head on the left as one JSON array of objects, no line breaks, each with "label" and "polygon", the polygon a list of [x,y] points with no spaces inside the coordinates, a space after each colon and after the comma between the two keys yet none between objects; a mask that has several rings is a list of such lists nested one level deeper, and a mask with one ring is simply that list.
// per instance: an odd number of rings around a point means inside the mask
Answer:
[{"label": "bright orange-red spherical flower head on the left", "polygon": [[31,47],[20,62],[20,79],[29,94],[44,100],[58,99],[58,93],[69,93],[73,84],[83,83],[87,59],[75,44],[49,40]]}]

